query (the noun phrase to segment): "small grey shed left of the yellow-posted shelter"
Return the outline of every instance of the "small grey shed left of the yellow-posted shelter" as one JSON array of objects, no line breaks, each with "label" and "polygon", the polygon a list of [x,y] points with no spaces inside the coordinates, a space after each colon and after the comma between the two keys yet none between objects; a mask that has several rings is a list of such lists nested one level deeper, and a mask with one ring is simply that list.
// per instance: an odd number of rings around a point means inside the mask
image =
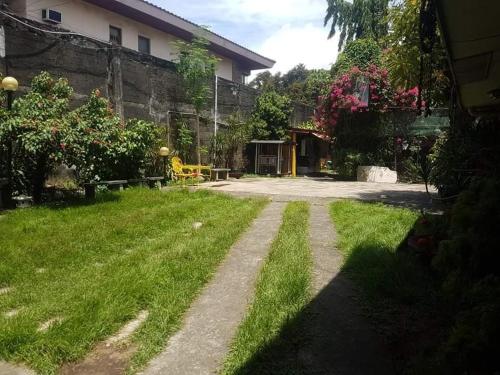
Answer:
[{"label": "small grey shed left of the yellow-posted shelter", "polygon": [[283,140],[256,140],[255,174],[283,175],[289,174],[290,146]]}]

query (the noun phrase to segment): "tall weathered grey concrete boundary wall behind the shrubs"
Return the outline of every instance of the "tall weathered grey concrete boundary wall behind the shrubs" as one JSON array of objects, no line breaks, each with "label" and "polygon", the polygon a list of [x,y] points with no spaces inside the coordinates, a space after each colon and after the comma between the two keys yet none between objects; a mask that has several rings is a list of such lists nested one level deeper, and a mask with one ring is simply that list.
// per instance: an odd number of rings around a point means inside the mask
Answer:
[{"label": "tall weathered grey concrete boundary wall behind the shrubs", "polygon": [[[171,119],[175,112],[194,112],[187,103],[172,62],[119,46],[110,47],[90,38],[36,31],[5,17],[3,24],[6,58],[0,58],[1,70],[4,75],[17,78],[21,91],[28,88],[35,75],[45,70],[68,79],[74,88],[72,105],[75,107],[81,105],[92,90],[99,89],[109,97],[116,112],[125,118],[147,119],[169,128],[174,126]],[[244,116],[253,110],[258,91],[222,78],[217,88],[220,122],[224,123],[237,110]],[[212,91],[209,105],[202,114],[201,144],[206,147],[214,132],[215,90]],[[296,108],[294,117],[297,120],[292,119],[292,124],[307,116],[304,113]],[[194,121],[189,124],[195,130]],[[173,133],[171,131],[171,146]],[[243,155],[238,160],[240,165],[237,167],[243,167]]]}]

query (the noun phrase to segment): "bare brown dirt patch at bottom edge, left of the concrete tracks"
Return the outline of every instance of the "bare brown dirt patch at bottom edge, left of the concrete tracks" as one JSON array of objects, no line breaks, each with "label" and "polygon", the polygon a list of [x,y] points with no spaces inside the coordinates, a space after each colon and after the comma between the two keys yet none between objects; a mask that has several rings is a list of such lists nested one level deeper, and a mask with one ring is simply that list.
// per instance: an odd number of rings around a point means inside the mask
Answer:
[{"label": "bare brown dirt patch at bottom edge, left of the concrete tracks", "polygon": [[61,375],[123,375],[137,348],[134,345],[97,345],[91,355],[82,362],[69,363],[61,369]]}]

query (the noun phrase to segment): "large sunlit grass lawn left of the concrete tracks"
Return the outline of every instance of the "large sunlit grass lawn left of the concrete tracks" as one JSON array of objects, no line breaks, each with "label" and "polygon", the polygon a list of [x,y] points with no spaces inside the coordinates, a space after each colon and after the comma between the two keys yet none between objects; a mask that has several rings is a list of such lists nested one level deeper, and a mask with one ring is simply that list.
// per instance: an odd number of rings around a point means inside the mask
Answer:
[{"label": "large sunlit grass lawn left of the concrete tracks", "polygon": [[[163,349],[230,246],[265,205],[131,189],[91,205],[0,219],[0,358],[43,374],[84,357],[139,311],[132,370]],[[194,222],[203,226],[192,229]],[[17,314],[5,313],[17,310]],[[40,324],[56,321],[46,332]]]}]

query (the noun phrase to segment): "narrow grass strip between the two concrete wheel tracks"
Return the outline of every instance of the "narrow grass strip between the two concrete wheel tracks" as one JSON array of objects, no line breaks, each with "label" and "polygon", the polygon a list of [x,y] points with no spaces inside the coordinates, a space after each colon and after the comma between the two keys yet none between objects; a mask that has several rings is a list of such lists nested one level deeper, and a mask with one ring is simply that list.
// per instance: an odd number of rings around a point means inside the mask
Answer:
[{"label": "narrow grass strip between the two concrete wheel tracks", "polygon": [[[224,374],[292,373],[280,363],[300,337],[288,325],[310,299],[312,257],[308,240],[309,206],[290,203],[260,273],[256,295],[238,329]],[[289,335],[284,335],[284,331]],[[280,355],[276,355],[279,351]]]}]

